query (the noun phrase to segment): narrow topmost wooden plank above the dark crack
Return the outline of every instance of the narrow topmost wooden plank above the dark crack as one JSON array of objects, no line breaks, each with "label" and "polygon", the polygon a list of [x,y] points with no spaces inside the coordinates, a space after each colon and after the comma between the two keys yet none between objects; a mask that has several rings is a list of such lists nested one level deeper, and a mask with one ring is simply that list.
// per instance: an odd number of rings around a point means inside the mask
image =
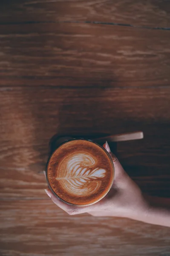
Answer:
[{"label": "narrow topmost wooden plank above the dark crack", "polygon": [[85,21],[170,27],[167,0],[6,0],[1,23]]}]

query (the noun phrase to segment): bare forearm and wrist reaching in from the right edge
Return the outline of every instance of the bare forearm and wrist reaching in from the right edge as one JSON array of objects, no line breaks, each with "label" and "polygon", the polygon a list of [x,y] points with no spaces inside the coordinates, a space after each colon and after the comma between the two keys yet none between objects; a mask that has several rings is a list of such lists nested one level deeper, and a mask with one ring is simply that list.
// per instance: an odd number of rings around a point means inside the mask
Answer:
[{"label": "bare forearm and wrist reaching in from the right edge", "polygon": [[148,207],[134,215],[134,219],[170,227],[170,198],[147,196],[146,200]]}]

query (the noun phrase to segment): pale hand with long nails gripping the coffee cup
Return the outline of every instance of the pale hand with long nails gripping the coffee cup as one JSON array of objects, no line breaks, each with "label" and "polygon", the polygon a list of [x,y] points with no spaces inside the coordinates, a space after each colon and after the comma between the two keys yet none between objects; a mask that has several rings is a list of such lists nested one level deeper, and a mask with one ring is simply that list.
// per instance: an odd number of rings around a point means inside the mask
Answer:
[{"label": "pale hand with long nails gripping the coffee cup", "polygon": [[103,147],[112,157],[115,179],[109,193],[101,201],[86,207],[70,206],[56,198],[49,189],[45,189],[46,193],[58,207],[70,215],[88,212],[93,216],[118,216],[136,219],[141,212],[147,211],[147,202],[139,187],[127,175],[118,159],[110,151],[108,143],[106,142]]}]

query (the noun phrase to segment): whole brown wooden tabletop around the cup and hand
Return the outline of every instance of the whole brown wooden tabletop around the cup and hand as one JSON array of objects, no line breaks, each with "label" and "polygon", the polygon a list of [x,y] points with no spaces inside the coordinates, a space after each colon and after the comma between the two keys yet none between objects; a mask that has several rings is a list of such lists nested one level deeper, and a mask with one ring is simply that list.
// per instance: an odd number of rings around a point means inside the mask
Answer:
[{"label": "whole brown wooden tabletop around the cup and hand", "polygon": [[0,256],[170,256],[170,229],[69,216],[43,176],[54,134],[143,131],[118,157],[170,197],[170,1],[0,1]]}]

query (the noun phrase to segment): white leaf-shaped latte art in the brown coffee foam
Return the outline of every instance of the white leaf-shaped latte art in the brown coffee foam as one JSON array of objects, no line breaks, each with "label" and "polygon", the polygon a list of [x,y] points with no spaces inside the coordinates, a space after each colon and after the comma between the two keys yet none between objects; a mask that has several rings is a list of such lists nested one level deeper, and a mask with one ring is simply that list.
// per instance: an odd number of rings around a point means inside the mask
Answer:
[{"label": "white leaf-shaped latte art in the brown coffee foam", "polygon": [[[65,166],[63,169],[62,166]],[[101,178],[106,170],[96,167],[97,160],[89,154],[79,153],[63,160],[59,165],[58,176],[62,188],[71,195],[89,196],[98,191],[101,186]],[[93,184],[92,184],[93,182]],[[92,186],[93,185],[93,186]]]}]

